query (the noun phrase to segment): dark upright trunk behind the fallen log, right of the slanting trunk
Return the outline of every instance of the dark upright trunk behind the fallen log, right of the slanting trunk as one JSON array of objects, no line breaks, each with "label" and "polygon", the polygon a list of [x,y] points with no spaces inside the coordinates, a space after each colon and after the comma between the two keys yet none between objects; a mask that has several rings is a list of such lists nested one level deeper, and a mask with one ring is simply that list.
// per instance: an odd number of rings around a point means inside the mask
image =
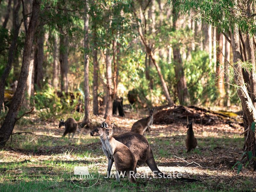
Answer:
[{"label": "dark upright trunk behind the fallen log, right of the slanting trunk", "polygon": [[[176,28],[179,27],[179,19],[178,19],[178,13],[176,13],[174,6],[173,6],[172,14],[173,14],[173,30],[176,30]],[[178,90],[180,105],[188,105],[189,93],[188,93],[186,78],[184,75],[184,68],[183,68],[183,62],[181,60],[179,45],[175,45],[173,47],[173,61],[174,61],[174,71],[175,71],[175,77],[177,81],[177,90]]]}]

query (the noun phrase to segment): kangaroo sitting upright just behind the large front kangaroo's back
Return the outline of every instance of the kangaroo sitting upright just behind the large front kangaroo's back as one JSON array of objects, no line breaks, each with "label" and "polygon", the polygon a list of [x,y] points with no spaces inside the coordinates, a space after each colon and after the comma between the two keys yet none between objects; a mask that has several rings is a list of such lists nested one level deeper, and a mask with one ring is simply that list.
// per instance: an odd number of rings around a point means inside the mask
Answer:
[{"label": "kangaroo sitting upright just behind the large front kangaroo's back", "polygon": [[132,125],[131,132],[139,133],[140,135],[143,135],[143,133],[146,130],[148,132],[150,132],[150,127],[152,126],[153,121],[154,121],[154,116],[153,116],[154,108],[152,108],[152,109],[148,108],[148,111],[149,111],[149,116],[147,118],[143,118],[143,119],[136,121]]}]

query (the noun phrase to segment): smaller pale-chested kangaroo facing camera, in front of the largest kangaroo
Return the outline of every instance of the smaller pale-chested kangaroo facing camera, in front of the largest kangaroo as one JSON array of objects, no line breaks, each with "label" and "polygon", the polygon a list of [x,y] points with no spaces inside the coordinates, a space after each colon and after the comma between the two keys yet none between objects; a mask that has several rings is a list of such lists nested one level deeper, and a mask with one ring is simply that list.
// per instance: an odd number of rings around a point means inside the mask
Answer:
[{"label": "smaller pale-chested kangaroo facing camera, in front of the largest kangaroo", "polygon": [[123,172],[131,183],[136,183],[134,174],[136,172],[136,160],[132,152],[123,143],[115,140],[113,135],[113,125],[105,128],[105,144],[111,159],[114,159],[116,166],[116,181],[120,182],[120,173]]}]

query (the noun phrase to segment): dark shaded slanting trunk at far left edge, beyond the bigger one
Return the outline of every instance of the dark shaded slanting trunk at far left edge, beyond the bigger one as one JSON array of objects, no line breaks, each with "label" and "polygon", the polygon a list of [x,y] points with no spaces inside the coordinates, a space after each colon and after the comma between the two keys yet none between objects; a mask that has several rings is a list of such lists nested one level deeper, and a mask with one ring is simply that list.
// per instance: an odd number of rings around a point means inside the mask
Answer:
[{"label": "dark shaded slanting trunk at far left edge, beyond the bigger one", "polygon": [[18,13],[19,13],[19,9],[20,9],[20,3],[21,3],[21,1],[19,0],[17,7],[15,9],[15,12],[14,12],[14,15],[15,15],[14,20],[15,21],[14,21],[14,27],[13,27],[12,43],[10,45],[9,52],[8,52],[8,61],[7,61],[6,68],[4,69],[4,73],[0,79],[0,114],[2,111],[2,106],[3,106],[2,104],[4,102],[5,81],[6,81],[7,77],[9,76],[9,73],[12,69],[12,61],[13,61],[13,57],[14,57],[13,53],[16,52],[16,48],[17,48],[17,39],[19,36],[19,29],[20,29],[19,21],[18,21]]}]

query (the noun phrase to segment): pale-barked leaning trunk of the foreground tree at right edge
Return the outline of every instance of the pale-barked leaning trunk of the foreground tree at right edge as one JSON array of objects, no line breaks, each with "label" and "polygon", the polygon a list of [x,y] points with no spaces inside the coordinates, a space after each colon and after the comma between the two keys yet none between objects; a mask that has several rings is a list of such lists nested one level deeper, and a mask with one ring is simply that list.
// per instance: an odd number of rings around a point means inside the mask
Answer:
[{"label": "pale-barked leaning trunk of the foreground tree at right edge", "polygon": [[[238,85],[237,94],[242,103],[243,120],[244,120],[244,152],[252,151],[252,155],[256,156],[256,130],[251,129],[252,122],[256,122],[256,110],[253,106],[252,100],[248,94],[244,83],[243,68],[242,68],[242,52],[240,49],[238,26],[231,33],[231,47],[233,53],[234,79]],[[254,68],[252,73],[255,74]],[[254,127],[255,128],[255,127]],[[247,161],[246,155],[243,156],[243,162]],[[256,162],[253,161],[254,170],[256,169]]]}]

